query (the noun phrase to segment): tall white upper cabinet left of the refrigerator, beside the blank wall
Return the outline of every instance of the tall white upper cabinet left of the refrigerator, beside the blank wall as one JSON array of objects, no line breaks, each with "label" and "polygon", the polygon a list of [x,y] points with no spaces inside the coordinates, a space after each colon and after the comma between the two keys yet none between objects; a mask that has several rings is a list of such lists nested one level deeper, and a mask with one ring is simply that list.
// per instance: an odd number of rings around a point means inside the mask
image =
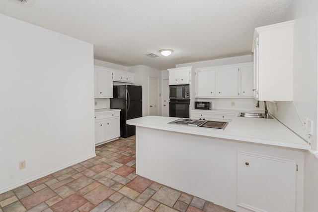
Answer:
[{"label": "tall white upper cabinet left of the refrigerator, beside the blank wall", "polygon": [[113,98],[112,71],[94,66],[94,97]]}]

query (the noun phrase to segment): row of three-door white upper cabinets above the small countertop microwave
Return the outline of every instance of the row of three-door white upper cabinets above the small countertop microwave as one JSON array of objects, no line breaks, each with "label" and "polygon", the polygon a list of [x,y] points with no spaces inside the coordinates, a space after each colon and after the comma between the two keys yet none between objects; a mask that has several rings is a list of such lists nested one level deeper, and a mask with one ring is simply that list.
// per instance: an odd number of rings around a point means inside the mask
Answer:
[{"label": "row of three-door white upper cabinets above the small countertop microwave", "polygon": [[253,97],[253,63],[195,69],[195,98]]}]

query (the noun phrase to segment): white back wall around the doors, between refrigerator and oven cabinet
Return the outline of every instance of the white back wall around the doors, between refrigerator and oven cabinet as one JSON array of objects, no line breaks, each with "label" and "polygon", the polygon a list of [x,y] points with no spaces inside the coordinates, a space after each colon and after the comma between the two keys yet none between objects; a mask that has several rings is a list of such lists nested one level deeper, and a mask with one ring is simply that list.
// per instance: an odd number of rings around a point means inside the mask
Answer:
[{"label": "white back wall around the doors, between refrigerator and oven cabinet", "polygon": [[[161,72],[158,69],[139,65],[139,66],[130,66],[128,67],[130,72],[135,73],[135,84],[142,86],[142,98],[143,98],[143,116],[147,116],[149,114],[149,76],[151,77],[158,77],[159,80],[159,87],[158,91],[161,91]],[[161,115],[161,99],[159,98],[159,115]]]}]

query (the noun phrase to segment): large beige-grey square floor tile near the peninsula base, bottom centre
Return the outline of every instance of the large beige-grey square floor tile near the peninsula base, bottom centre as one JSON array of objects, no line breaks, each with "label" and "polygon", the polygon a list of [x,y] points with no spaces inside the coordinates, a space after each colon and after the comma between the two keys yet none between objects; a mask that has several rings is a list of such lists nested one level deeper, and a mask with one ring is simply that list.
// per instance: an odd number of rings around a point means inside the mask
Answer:
[{"label": "large beige-grey square floor tile near the peninsula base, bottom centre", "polygon": [[159,203],[172,208],[175,202],[177,202],[180,195],[180,192],[162,186],[152,198],[154,200],[157,200]]}]

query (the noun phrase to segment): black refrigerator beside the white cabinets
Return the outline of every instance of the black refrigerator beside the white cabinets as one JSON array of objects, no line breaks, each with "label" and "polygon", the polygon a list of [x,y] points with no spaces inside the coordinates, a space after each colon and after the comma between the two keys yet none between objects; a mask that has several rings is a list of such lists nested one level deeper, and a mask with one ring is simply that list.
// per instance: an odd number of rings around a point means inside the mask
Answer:
[{"label": "black refrigerator beside the white cabinets", "polygon": [[120,111],[120,137],[127,138],[136,134],[136,126],[127,125],[126,120],[143,116],[141,86],[114,86],[114,98],[110,108]]}]

